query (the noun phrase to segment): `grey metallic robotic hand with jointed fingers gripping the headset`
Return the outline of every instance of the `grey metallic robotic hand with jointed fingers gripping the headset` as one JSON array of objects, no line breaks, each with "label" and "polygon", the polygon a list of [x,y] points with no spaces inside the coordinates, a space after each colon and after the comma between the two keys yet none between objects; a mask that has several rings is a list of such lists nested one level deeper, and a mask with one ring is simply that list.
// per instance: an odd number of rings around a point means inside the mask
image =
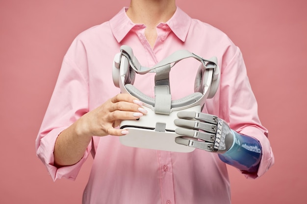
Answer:
[{"label": "grey metallic robotic hand with jointed fingers gripping the headset", "polygon": [[178,144],[203,149],[208,152],[225,153],[233,142],[228,124],[215,115],[198,112],[179,112],[174,123]]}]

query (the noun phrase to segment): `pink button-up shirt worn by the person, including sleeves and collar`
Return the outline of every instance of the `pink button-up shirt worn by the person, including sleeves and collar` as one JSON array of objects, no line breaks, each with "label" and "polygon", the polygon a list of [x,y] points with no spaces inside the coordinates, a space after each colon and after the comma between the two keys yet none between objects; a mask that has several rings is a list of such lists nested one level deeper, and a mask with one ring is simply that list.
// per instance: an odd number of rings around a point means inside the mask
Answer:
[{"label": "pink button-up shirt worn by the person, including sleeves and collar", "polygon": [[[167,23],[157,25],[157,40],[148,44],[145,25],[132,23],[123,8],[110,21],[92,27],[72,43],[64,57],[51,102],[36,140],[37,155],[53,180],[75,179],[85,159],[95,155],[84,204],[229,204],[230,183],[226,164],[217,154],[196,149],[175,153],[122,145],[117,136],[93,137],[83,159],[62,168],[53,166],[56,137],[82,114],[95,109],[120,92],[112,81],[112,62],[121,45],[132,47],[146,67],[179,49],[204,58],[216,56],[221,84],[208,99],[204,113],[218,115],[230,128],[254,136],[263,155],[257,174],[263,175],[274,163],[267,130],[261,126],[239,48],[220,30],[191,19],[179,8]],[[186,60],[170,73],[173,99],[194,92],[199,62]],[[153,96],[154,75],[137,75],[135,87]]]}]

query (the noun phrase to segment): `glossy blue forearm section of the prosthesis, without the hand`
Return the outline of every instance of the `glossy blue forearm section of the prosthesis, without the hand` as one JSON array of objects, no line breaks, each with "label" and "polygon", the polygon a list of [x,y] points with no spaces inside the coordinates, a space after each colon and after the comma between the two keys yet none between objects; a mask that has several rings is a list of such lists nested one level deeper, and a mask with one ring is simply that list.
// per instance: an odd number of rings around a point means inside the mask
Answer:
[{"label": "glossy blue forearm section of the prosthesis, without the hand", "polygon": [[234,135],[233,144],[226,153],[219,154],[219,158],[239,170],[257,172],[262,156],[259,141],[254,137],[231,131]]}]

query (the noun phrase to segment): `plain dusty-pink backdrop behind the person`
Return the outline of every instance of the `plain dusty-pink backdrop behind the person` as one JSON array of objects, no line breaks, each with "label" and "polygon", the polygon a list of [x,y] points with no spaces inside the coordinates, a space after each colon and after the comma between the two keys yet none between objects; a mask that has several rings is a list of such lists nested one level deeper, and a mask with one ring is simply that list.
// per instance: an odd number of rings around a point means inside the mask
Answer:
[{"label": "plain dusty-pink backdrop behind the person", "polygon": [[[232,203],[306,204],[307,1],[177,4],[241,48],[270,131],[276,164],[255,181],[230,167]],[[128,0],[0,0],[0,204],[81,203],[92,160],[77,181],[52,182],[34,141],[68,46],[124,5]]]}]

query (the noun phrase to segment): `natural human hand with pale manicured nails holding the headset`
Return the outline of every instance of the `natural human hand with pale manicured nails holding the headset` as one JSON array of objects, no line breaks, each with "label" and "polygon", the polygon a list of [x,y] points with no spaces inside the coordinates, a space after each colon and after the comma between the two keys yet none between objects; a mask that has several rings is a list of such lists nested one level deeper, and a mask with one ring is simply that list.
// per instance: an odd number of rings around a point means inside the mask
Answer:
[{"label": "natural human hand with pale manicured nails holding the headset", "polygon": [[147,111],[142,102],[130,94],[120,93],[98,108],[84,114],[76,124],[76,132],[82,136],[123,136],[127,130],[115,129],[122,120],[138,119]]}]

